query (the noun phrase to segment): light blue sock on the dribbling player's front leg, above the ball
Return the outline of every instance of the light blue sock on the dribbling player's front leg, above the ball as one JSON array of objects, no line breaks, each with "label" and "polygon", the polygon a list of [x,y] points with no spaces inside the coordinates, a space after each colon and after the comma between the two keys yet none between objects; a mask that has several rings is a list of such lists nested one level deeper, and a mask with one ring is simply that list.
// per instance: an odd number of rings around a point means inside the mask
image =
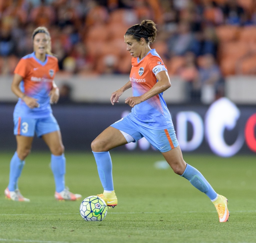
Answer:
[{"label": "light blue sock on the dribbling player's front leg, above the ball", "polygon": [[101,184],[106,191],[114,191],[113,177],[112,177],[112,161],[110,153],[107,152],[93,152]]}]

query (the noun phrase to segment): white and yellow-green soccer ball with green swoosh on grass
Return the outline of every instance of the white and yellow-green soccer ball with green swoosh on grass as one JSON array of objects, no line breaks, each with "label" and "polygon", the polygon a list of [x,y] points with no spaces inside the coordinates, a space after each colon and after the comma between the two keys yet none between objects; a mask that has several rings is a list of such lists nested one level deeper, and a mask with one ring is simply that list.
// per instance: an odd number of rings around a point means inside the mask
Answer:
[{"label": "white and yellow-green soccer ball with green swoosh on grass", "polygon": [[86,221],[102,221],[108,212],[104,200],[98,196],[88,196],[80,205],[80,214]]}]

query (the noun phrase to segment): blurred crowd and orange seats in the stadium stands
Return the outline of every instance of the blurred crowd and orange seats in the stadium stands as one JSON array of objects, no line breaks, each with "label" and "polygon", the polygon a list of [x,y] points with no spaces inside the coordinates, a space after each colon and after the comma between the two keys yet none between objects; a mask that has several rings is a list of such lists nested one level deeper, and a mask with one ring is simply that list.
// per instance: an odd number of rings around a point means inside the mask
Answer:
[{"label": "blurred crowd and orange seats in the stadium stands", "polygon": [[[255,0],[0,0],[0,74],[12,74],[33,50],[38,26],[51,34],[65,74],[128,74],[124,33],[143,19],[158,27],[152,48],[170,75],[214,84],[228,75],[256,74]],[[193,94],[192,94],[193,95]]]}]

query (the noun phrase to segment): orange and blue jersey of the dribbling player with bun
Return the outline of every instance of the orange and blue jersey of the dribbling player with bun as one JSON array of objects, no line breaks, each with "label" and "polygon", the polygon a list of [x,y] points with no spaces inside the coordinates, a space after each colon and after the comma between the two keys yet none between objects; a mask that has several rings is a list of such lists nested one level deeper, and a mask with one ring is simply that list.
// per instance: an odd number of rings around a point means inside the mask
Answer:
[{"label": "orange and blue jersey of the dribbling player with bun", "polygon": [[[149,51],[140,61],[138,57],[132,58],[130,81],[132,83],[133,96],[143,95],[158,82],[156,78],[156,74],[159,71],[158,67],[160,67],[160,70],[167,71],[166,66],[155,49]],[[134,106],[129,117],[134,122],[150,129],[161,130],[173,126],[163,93]]]}]

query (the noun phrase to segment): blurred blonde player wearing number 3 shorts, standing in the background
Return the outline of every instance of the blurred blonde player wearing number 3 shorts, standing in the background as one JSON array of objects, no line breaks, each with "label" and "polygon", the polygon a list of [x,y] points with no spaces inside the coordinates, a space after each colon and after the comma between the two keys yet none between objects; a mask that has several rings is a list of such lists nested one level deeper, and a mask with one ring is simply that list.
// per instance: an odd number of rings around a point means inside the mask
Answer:
[{"label": "blurred blonde player wearing number 3 shorts, standing in the background", "polygon": [[54,83],[55,74],[59,70],[58,60],[51,53],[51,38],[45,27],[34,30],[32,41],[34,52],[19,61],[12,82],[12,91],[19,97],[13,114],[17,150],[10,162],[9,184],[5,189],[5,196],[14,201],[30,201],[20,193],[18,178],[36,133],[51,151],[55,198],[77,200],[81,195],[73,194],[65,188],[64,146],[59,125],[50,106],[59,99],[59,91]]}]

